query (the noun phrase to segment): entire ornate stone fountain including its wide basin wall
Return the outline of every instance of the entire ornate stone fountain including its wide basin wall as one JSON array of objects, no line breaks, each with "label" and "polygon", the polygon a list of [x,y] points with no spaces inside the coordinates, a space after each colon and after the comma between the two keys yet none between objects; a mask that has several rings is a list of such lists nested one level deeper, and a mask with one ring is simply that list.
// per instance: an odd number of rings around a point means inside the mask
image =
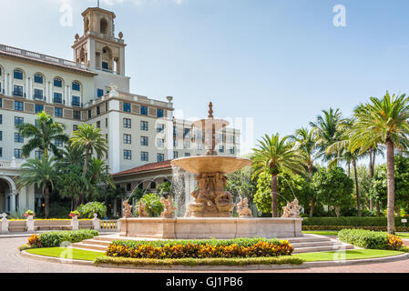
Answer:
[{"label": "entire ornate stone fountain including its wide basin wall", "polygon": [[210,103],[207,119],[193,123],[194,127],[205,133],[205,156],[183,157],[171,162],[172,166],[179,166],[195,174],[198,182],[198,189],[190,193],[194,203],[188,206],[185,217],[171,218],[170,214],[169,216],[163,214],[159,218],[124,217],[120,219],[120,236],[129,236],[129,239],[132,237],[230,239],[254,236],[266,238],[302,236],[301,218],[251,218],[251,210],[245,200],[242,200],[238,206],[240,218],[231,217],[234,204],[231,194],[224,191],[226,175],[244,166],[250,166],[251,161],[234,156],[217,156],[216,132],[229,123],[215,119],[212,107]]}]

